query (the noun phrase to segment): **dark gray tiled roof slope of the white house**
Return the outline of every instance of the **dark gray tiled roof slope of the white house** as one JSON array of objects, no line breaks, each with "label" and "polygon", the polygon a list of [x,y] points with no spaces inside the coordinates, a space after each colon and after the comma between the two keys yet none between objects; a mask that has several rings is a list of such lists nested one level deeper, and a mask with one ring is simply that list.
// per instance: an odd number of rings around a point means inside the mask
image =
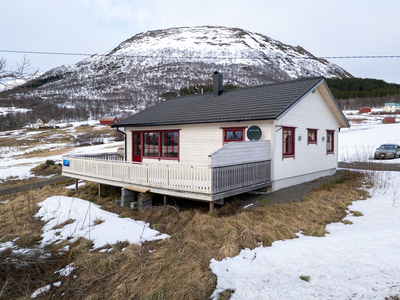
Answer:
[{"label": "dark gray tiled roof slope of the white house", "polygon": [[206,93],[170,98],[112,127],[276,119],[322,80],[309,77],[228,90],[219,96]]}]

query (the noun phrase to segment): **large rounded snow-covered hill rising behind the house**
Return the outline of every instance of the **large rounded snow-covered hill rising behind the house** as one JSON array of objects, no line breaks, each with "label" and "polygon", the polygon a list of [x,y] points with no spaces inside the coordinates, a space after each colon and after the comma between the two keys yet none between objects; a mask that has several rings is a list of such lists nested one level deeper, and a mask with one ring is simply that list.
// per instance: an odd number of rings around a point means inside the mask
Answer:
[{"label": "large rounded snow-covered hill rising behind the house", "polygon": [[[306,76],[349,77],[342,68],[258,33],[227,27],[181,27],[139,33],[115,49],[40,76],[30,90],[8,99],[129,101],[142,109],[183,86],[258,85]],[[3,96],[4,97],[4,96]]]}]

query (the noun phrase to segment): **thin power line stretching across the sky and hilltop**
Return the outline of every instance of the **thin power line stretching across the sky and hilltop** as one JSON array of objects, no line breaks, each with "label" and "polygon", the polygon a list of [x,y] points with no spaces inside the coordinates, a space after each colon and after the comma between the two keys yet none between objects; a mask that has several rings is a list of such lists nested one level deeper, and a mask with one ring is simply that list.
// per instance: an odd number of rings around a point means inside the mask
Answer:
[{"label": "thin power line stretching across the sky and hilltop", "polygon": [[[89,54],[89,53],[72,53],[72,52],[47,52],[47,51],[19,51],[19,50],[1,50],[4,53],[21,53],[21,54],[41,54],[41,55],[75,55],[75,56],[106,56],[107,54]],[[259,60],[260,58],[255,57],[215,57],[215,56],[151,56],[151,55],[123,55],[118,54],[122,57],[133,57],[133,58],[198,58],[198,59],[250,59]],[[273,56],[274,58],[288,58],[282,56]],[[354,55],[354,56],[321,56],[321,57],[290,57],[292,59],[377,59],[377,58],[400,58],[400,55]]]}]

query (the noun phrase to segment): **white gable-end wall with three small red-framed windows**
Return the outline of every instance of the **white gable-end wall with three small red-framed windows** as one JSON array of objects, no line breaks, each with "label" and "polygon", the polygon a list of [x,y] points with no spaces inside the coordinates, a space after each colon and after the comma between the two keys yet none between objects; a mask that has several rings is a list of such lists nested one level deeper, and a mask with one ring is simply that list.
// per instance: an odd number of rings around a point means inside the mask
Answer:
[{"label": "white gable-end wall with three small red-framed windows", "polygon": [[[282,126],[295,127],[295,157],[283,158]],[[328,105],[316,89],[289,110],[281,119],[276,121],[275,145],[272,180],[278,182],[290,179],[297,182],[295,177],[308,179],[306,174],[318,174],[337,167],[339,124],[332,115]],[[318,129],[317,144],[308,144],[307,129]],[[327,154],[326,131],[334,130],[334,154]],[[299,141],[299,137],[301,140]],[[323,140],[324,139],[324,140]],[[331,173],[329,171],[329,173]],[[320,177],[319,175],[315,175]],[[312,180],[313,176],[311,176]],[[304,180],[306,181],[306,180]],[[302,181],[302,182],[304,182]],[[297,182],[300,183],[300,182]],[[285,184],[276,184],[284,186]],[[275,188],[274,188],[275,189]]]}]

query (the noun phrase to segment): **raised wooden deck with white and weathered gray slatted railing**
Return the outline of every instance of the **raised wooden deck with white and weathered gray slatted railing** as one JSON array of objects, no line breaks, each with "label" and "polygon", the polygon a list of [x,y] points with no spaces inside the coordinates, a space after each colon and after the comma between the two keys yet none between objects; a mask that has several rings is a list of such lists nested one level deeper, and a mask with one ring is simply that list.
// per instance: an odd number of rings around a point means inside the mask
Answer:
[{"label": "raised wooden deck with white and weathered gray slatted railing", "polygon": [[[113,186],[216,201],[271,185],[270,160],[228,166],[182,166],[123,161],[114,153],[63,157],[63,175]],[[68,165],[68,166],[67,166]]]}]

